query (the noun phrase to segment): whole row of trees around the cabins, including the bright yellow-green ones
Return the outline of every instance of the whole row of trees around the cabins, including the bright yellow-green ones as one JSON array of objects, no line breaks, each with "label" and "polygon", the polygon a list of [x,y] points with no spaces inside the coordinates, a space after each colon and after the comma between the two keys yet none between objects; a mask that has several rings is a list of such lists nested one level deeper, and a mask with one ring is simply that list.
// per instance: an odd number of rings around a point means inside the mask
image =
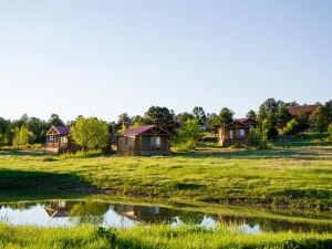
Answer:
[{"label": "whole row of trees around the cabins, including the bright yellow-green ones", "polygon": [[[332,101],[320,106],[311,114],[299,113],[291,116],[288,106],[298,106],[297,102],[266,100],[257,112],[250,110],[247,117],[258,122],[255,135],[260,141],[276,139],[278,136],[303,134],[307,129],[332,134]],[[21,118],[10,121],[0,117],[0,146],[42,144],[45,142],[46,132],[50,127],[68,125],[76,127],[73,133],[85,147],[95,147],[93,144],[93,127],[102,128],[100,134],[120,134],[129,127],[156,124],[175,136],[177,143],[195,144],[201,139],[201,131],[217,134],[218,129],[234,121],[235,113],[231,108],[222,107],[219,113],[206,113],[203,107],[196,106],[193,112],[175,114],[173,110],[160,106],[151,106],[143,116],[129,116],[121,114],[117,121],[106,122],[96,117],[84,118],[77,116],[75,121],[64,123],[58,114],[52,114],[48,121],[38,117],[29,117],[27,114]],[[76,125],[75,125],[76,124]],[[179,127],[181,126],[181,129]],[[81,131],[81,132],[80,132]],[[179,132],[178,132],[179,131]],[[95,135],[96,136],[96,135]],[[331,135],[332,136],[332,135]]]}]

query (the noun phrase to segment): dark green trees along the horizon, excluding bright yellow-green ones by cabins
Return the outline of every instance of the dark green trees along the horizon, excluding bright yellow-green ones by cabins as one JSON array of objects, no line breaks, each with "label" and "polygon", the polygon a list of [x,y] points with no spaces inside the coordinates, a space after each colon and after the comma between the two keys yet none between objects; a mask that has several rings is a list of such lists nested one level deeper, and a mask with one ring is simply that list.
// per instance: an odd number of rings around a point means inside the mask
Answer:
[{"label": "dark green trees along the horizon, excluding bright yellow-green ones by cabins", "polygon": [[[329,124],[332,123],[332,100],[321,104],[317,102],[320,107],[312,113],[311,116],[300,113],[293,117],[288,112],[288,106],[299,106],[298,102],[283,102],[281,100],[267,98],[258,111],[248,110],[247,117],[251,117],[258,122],[261,129],[268,127],[267,136],[269,139],[277,138],[278,135],[295,135],[303,133],[308,128],[318,132],[328,129]],[[305,105],[305,104],[303,104]],[[79,115],[76,117],[83,117]],[[97,117],[94,117],[97,118]],[[133,126],[142,126],[156,124],[169,131],[174,131],[189,120],[196,120],[197,124],[203,126],[206,131],[217,133],[222,125],[229,124],[235,120],[235,112],[229,107],[220,108],[219,113],[206,113],[200,106],[195,106],[193,112],[180,112],[175,114],[173,110],[160,106],[151,106],[143,116],[129,116],[123,113],[117,121],[98,121],[107,124],[108,131],[113,134],[121,133]],[[49,120],[41,120],[34,116],[29,117],[23,114],[19,120],[9,120],[0,116],[0,146],[12,145],[14,134],[19,133],[22,127],[24,132],[30,133],[31,144],[39,144],[45,142],[46,132],[54,126],[71,126],[75,121],[61,120],[58,114],[51,114]]]}]

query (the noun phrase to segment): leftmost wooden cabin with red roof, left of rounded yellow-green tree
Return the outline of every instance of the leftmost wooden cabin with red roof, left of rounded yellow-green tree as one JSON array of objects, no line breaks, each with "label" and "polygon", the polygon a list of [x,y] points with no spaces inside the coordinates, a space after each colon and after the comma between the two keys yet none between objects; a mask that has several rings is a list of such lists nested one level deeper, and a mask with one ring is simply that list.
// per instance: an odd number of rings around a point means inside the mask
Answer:
[{"label": "leftmost wooden cabin with red roof, left of rounded yellow-green tree", "polygon": [[46,133],[46,152],[51,153],[65,153],[77,152],[80,146],[70,136],[71,128],[68,126],[52,126]]}]

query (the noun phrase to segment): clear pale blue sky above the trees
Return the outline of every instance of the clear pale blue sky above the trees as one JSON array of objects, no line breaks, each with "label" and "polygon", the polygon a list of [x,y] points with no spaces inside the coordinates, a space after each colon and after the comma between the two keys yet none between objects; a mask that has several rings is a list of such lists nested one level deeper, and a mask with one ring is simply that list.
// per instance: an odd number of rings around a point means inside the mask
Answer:
[{"label": "clear pale blue sky above the trees", "polygon": [[330,0],[0,0],[0,116],[332,98]]}]

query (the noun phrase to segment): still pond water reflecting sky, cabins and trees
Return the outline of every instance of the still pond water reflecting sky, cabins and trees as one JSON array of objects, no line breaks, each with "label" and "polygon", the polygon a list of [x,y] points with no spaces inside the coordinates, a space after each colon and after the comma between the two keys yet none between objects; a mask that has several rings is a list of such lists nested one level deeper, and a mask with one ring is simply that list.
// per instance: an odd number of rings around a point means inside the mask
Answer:
[{"label": "still pond water reflecting sky, cabins and trees", "polygon": [[237,226],[246,234],[264,231],[331,231],[331,224],[294,222],[286,219],[248,218],[187,211],[159,206],[139,206],[86,200],[44,200],[0,204],[0,221],[10,225],[41,227],[93,224],[129,228],[142,224],[199,225],[215,228],[218,224]]}]

